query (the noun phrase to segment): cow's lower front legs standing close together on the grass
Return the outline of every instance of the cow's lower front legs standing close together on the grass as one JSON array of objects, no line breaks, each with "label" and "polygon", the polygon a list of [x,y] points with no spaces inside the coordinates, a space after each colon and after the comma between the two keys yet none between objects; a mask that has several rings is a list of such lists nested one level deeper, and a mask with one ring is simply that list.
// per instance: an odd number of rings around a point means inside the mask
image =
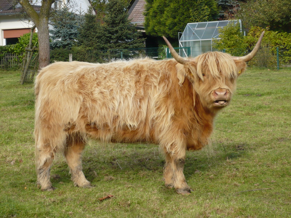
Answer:
[{"label": "cow's lower front legs standing close together on the grass", "polygon": [[183,174],[185,154],[177,156],[173,153],[166,154],[166,164],[164,167],[164,179],[167,188],[175,188],[179,194],[190,194],[191,189],[186,183]]}]

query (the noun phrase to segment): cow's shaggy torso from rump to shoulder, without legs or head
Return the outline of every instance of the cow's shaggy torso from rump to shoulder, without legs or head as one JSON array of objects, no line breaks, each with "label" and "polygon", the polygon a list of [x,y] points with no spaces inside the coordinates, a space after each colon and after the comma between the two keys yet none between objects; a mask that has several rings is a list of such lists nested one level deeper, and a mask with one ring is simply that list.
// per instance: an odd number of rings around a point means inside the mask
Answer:
[{"label": "cow's shaggy torso from rump to shoulder, without legs or head", "polygon": [[150,59],[53,63],[36,78],[36,121],[104,140],[129,140],[128,131],[147,139],[171,85],[169,72],[155,65]]}]

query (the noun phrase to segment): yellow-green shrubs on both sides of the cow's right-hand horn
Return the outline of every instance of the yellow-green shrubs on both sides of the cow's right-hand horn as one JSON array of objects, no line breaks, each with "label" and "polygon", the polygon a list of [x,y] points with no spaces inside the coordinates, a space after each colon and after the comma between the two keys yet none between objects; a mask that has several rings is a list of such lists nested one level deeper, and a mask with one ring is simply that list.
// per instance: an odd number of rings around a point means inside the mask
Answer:
[{"label": "yellow-green shrubs on both sides of the cow's right-hand horn", "polygon": [[291,61],[291,33],[282,33],[270,31],[261,27],[252,27],[247,36],[240,33],[238,25],[228,24],[219,30],[219,40],[214,40],[214,48],[225,49],[227,53],[233,56],[245,55],[245,52],[251,51],[257,43],[262,31],[265,31],[260,50],[255,58],[248,62],[249,66],[259,65],[265,67],[276,67],[277,47],[285,63]]}]

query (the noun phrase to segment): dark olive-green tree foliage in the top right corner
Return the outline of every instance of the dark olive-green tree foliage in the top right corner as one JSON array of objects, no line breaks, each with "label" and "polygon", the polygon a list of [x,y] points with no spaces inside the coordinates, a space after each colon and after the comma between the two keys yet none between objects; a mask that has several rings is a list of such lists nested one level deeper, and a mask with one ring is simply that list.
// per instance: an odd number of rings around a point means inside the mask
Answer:
[{"label": "dark olive-green tree foliage in the top right corner", "polygon": [[290,0],[249,0],[241,3],[237,17],[246,28],[269,27],[271,31],[291,32]]}]

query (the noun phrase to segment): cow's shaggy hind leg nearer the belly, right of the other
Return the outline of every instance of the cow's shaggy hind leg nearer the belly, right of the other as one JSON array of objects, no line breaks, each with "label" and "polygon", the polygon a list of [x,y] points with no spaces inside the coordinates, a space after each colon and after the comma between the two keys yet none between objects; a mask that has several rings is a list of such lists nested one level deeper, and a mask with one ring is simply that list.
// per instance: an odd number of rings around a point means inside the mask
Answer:
[{"label": "cow's shaggy hind leg nearer the belly, right of the other", "polygon": [[65,158],[70,168],[70,174],[75,186],[92,187],[82,171],[81,156],[85,147],[85,140],[80,135],[69,135],[65,148]]}]

